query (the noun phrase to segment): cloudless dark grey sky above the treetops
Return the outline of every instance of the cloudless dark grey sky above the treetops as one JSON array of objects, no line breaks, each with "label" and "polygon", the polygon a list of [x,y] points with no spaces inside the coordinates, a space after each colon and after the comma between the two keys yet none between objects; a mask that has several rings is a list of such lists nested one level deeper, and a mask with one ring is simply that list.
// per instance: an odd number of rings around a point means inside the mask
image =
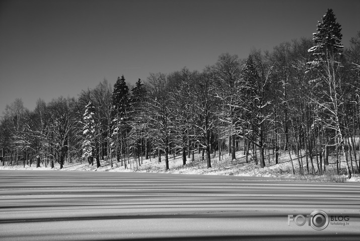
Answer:
[{"label": "cloudless dark grey sky above the treetops", "polygon": [[1,1],[0,116],[16,98],[33,110],[38,98],[76,97],[104,78],[134,84],[311,38],[328,8],[346,46],[360,31],[358,0]]}]

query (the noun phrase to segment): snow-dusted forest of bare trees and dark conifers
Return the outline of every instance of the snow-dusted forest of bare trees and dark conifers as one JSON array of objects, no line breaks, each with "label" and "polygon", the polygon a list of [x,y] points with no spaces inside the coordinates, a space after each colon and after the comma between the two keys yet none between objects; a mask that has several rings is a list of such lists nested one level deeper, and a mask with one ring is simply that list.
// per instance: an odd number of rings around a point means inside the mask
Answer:
[{"label": "snow-dusted forest of bare trees and dark conifers", "polygon": [[334,156],[350,178],[360,172],[360,31],[345,48],[328,9],[313,35],[246,59],[223,53],[202,71],[150,73],[134,86],[123,75],[113,87],[104,79],[77,98],[39,98],[34,110],[16,99],[0,119],[2,165],[108,159],[126,169],[151,155],[168,170],[170,155],[186,165],[198,152],[211,168],[211,155],[236,159],[241,146],[261,168],[269,153],[275,164],[295,153],[300,175],[321,175]]}]

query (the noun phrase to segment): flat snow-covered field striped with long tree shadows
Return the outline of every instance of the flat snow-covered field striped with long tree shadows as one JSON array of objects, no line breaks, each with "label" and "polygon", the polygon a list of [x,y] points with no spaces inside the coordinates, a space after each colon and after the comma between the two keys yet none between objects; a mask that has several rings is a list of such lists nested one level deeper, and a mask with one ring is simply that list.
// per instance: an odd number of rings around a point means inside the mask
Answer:
[{"label": "flat snow-covered field striped with long tree shadows", "polygon": [[[323,210],[315,230],[287,215]],[[301,220],[300,220],[301,222]],[[152,173],[0,171],[1,240],[358,240],[360,184]]]}]

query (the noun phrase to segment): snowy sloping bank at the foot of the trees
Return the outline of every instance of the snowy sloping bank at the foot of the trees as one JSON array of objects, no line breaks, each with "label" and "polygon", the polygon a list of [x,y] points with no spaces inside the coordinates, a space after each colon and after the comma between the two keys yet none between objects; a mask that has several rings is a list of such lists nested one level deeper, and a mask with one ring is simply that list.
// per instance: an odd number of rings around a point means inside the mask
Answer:
[{"label": "snowy sloping bank at the foot of the trees", "polygon": [[[211,155],[212,156],[212,155]],[[224,157],[224,158],[223,158]],[[96,163],[94,166],[89,165],[87,162],[81,163],[65,163],[63,166],[63,171],[106,171],[106,172],[152,172],[152,173],[175,173],[175,174],[204,174],[204,175],[233,175],[233,176],[251,176],[251,177],[270,177],[275,180],[283,181],[305,181],[305,182],[347,182],[347,181],[360,181],[360,175],[355,174],[353,177],[348,180],[346,175],[345,163],[341,162],[340,175],[336,174],[336,159],[334,157],[329,157],[329,166],[326,166],[326,172],[319,174],[316,172],[316,175],[307,174],[306,170],[306,158],[303,157],[304,172],[305,175],[302,176],[299,174],[299,163],[297,156],[292,154],[293,164],[295,169],[295,175],[293,174],[291,159],[289,153],[282,152],[279,157],[279,163],[275,165],[270,155],[270,159],[266,156],[265,168],[260,168],[260,164],[255,165],[254,160],[250,160],[249,163],[245,162],[245,156],[241,152],[237,152],[237,159],[231,160],[230,156],[227,153],[222,155],[221,160],[219,156],[211,157],[211,168],[207,169],[206,161],[201,160],[201,156],[195,153],[195,160],[191,162],[188,160],[186,166],[182,165],[182,156],[177,155],[175,158],[171,155],[169,156],[169,167],[170,170],[165,171],[165,157],[162,156],[162,162],[158,163],[158,158],[152,157],[151,159],[146,160],[142,159],[142,165],[139,166],[131,158],[130,164],[128,164],[128,169],[125,169],[124,166],[121,166],[121,162],[116,166],[115,160],[113,158],[113,168],[111,168],[110,159],[101,161],[101,167],[96,168]],[[249,158],[250,159],[250,158]],[[300,159],[301,161],[301,159]],[[141,162],[141,161],[140,161]],[[311,164],[310,170],[311,170]],[[355,168],[355,166],[354,166]],[[314,169],[318,170],[316,167],[316,160],[314,160]],[[40,168],[36,168],[36,164],[29,166],[0,166],[0,170],[60,170],[58,164],[55,165],[55,168],[51,169],[49,165],[47,167],[41,165]]]}]

